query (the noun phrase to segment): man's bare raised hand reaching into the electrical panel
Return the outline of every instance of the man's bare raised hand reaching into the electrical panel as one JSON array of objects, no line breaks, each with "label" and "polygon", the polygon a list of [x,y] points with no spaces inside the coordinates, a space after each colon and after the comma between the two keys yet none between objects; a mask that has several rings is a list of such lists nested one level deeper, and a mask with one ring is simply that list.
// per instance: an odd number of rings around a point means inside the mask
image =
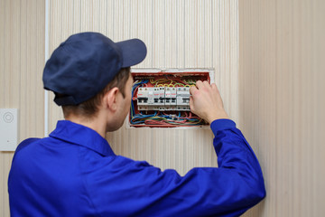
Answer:
[{"label": "man's bare raised hand reaching into the electrical panel", "polygon": [[197,81],[190,87],[190,111],[211,123],[215,119],[229,118],[217,85],[208,81]]}]

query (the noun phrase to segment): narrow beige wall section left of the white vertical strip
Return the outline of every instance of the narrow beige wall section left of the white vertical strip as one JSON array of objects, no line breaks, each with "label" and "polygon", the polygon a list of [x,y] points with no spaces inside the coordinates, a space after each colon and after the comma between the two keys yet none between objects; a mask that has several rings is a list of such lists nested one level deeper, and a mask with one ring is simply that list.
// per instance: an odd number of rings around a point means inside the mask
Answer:
[{"label": "narrow beige wall section left of the white vertical strip", "polygon": [[[0,108],[19,109],[18,140],[44,135],[42,0],[0,0]],[[9,216],[12,152],[0,152],[0,216]]]}]

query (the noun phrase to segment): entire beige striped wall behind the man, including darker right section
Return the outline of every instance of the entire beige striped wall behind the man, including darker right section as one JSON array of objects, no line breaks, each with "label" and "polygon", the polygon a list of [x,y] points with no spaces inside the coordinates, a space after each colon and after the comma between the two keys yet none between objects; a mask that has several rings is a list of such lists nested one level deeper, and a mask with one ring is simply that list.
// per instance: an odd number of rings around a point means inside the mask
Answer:
[{"label": "entire beige striped wall behind the man, including darker right section", "polygon": [[[95,31],[144,40],[140,68],[214,68],[265,174],[267,197],[245,216],[322,216],[324,9],[321,0],[49,0],[49,52],[71,33]],[[0,108],[19,109],[20,141],[42,137],[45,1],[0,0],[0,34]],[[49,96],[51,132],[62,116]],[[107,139],[116,154],[181,174],[217,165],[209,129],[124,126]],[[0,153],[1,216],[12,156]]]}]

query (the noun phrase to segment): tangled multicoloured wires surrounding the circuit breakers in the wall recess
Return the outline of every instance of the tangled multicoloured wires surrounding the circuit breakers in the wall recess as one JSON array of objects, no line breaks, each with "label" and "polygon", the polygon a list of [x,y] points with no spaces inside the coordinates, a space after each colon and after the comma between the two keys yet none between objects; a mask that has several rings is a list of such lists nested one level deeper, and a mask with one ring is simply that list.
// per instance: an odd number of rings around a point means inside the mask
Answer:
[{"label": "tangled multicoloured wires surrounding the circuit breakers in the wall recess", "polygon": [[139,87],[190,87],[195,85],[193,80],[180,80],[173,78],[157,79],[157,80],[136,80],[132,88],[132,101],[130,111],[130,123],[138,126],[198,126],[205,124],[200,117],[193,116],[191,112],[186,111],[146,111],[135,113],[135,101],[137,90]]}]

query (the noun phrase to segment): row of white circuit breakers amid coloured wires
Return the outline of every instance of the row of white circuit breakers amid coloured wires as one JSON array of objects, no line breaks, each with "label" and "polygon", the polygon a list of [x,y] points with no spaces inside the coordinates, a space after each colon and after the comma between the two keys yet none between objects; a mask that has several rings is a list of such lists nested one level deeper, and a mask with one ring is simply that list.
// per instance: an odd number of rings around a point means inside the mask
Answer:
[{"label": "row of white circuit breakers amid coloured wires", "polygon": [[189,87],[143,87],[137,94],[138,110],[190,111]]}]

